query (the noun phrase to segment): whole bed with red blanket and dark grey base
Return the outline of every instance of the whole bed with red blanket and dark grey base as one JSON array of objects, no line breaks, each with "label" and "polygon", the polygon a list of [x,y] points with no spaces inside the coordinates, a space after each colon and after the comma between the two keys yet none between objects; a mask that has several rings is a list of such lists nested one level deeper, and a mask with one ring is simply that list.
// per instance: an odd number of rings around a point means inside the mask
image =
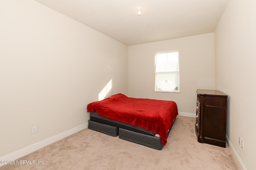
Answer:
[{"label": "whole bed with red blanket and dark grey base", "polygon": [[162,150],[178,115],[173,101],[129,98],[116,94],[88,104],[88,129]]}]

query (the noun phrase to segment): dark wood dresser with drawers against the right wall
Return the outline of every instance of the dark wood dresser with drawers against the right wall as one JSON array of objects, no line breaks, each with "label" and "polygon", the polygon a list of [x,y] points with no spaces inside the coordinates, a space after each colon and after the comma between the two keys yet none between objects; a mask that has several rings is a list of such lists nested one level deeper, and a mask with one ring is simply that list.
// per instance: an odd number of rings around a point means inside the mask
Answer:
[{"label": "dark wood dresser with drawers against the right wall", "polygon": [[226,115],[228,96],[218,90],[196,90],[197,141],[226,147]]}]

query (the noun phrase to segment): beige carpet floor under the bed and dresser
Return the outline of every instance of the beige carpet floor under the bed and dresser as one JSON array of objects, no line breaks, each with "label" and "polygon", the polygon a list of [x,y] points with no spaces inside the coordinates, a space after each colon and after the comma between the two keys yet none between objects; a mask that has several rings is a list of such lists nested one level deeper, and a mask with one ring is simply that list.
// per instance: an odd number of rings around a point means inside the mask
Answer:
[{"label": "beige carpet floor under the bed and dresser", "polygon": [[[195,118],[178,116],[162,150],[84,129],[0,170],[239,170],[230,149],[197,142]],[[44,161],[44,164],[38,164]]]}]

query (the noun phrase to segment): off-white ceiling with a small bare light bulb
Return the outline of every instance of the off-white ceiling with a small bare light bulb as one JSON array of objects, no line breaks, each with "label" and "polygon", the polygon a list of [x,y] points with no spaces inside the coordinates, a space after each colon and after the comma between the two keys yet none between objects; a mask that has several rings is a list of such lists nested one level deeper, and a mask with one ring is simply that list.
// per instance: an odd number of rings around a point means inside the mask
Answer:
[{"label": "off-white ceiling with a small bare light bulb", "polygon": [[[35,0],[125,45],[212,33],[228,0]],[[141,7],[138,16],[137,8]]]}]

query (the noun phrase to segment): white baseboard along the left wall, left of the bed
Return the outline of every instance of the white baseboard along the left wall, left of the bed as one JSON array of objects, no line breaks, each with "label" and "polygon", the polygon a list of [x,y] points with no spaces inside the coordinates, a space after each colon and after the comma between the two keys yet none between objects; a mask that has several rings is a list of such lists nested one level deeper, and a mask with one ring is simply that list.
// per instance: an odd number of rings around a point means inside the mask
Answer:
[{"label": "white baseboard along the left wall, left of the bed", "polygon": [[[50,145],[56,141],[59,141],[60,139],[63,139],[65,137],[68,137],[78,131],[81,131],[83,129],[86,129],[88,128],[88,123],[84,123],[83,125],[80,125],[78,127],[74,127],[73,129],[70,129],[68,131],[65,131],[63,133],[60,133],[58,135],[55,135],[53,137],[50,137],[48,139],[45,139],[43,141],[40,141],[38,143],[35,143],[33,145],[30,145],[26,148],[23,148],[23,149],[20,149],[20,150],[17,150],[16,152],[13,152],[11,154],[8,154],[6,156],[3,156],[0,158],[0,161],[1,160],[16,160],[22,156],[25,156],[27,154],[30,154],[38,149],[41,149],[43,147],[46,147],[47,145]],[[2,166],[3,164],[0,164],[0,166]]]}]

